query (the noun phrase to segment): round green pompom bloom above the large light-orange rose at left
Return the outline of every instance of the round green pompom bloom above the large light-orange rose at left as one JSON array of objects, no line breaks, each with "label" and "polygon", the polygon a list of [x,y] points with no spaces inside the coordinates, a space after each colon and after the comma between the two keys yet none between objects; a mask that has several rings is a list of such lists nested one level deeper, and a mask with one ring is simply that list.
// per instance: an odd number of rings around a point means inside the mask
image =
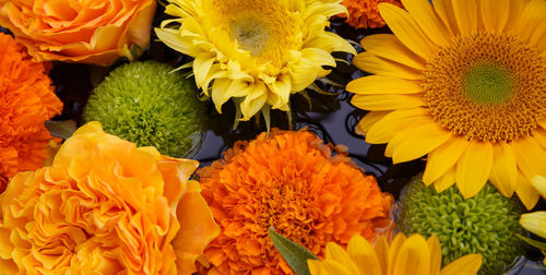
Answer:
[{"label": "round green pompom bloom above the large light-orange rose at left", "polygon": [[201,146],[203,105],[191,80],[154,61],[121,65],[94,89],[83,121],[139,146],[171,157],[190,157]]}]

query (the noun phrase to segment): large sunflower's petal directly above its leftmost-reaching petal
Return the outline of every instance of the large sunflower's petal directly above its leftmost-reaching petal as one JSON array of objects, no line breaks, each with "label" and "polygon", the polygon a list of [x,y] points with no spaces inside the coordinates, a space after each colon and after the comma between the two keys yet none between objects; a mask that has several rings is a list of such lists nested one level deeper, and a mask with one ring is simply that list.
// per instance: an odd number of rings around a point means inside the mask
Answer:
[{"label": "large sunflower's petal directly above its leftmost-reaching petal", "polygon": [[418,70],[380,58],[370,51],[358,53],[358,56],[353,58],[353,64],[360,70],[378,75],[420,80],[420,72]]}]

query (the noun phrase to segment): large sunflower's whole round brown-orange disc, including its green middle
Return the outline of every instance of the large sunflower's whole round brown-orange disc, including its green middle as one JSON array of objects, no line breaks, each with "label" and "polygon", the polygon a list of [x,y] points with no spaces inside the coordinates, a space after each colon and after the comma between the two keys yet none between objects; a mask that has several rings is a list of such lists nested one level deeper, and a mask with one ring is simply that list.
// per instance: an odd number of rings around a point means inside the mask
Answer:
[{"label": "large sunflower's whole round brown-orange disc, including its green middle", "polygon": [[432,118],[468,140],[518,140],[546,115],[546,67],[514,35],[453,38],[429,60],[422,85]]}]

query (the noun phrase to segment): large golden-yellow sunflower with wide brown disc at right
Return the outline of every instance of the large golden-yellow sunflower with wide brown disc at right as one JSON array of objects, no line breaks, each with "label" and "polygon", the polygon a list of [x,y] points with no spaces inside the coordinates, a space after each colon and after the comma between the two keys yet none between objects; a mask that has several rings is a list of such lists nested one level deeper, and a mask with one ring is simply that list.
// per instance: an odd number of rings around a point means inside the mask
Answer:
[{"label": "large golden-yellow sunflower with wide brown disc at right", "polygon": [[428,154],[424,182],[456,182],[464,198],[491,183],[527,208],[546,170],[546,1],[403,0],[380,3],[391,34],[361,40],[351,82],[370,110],[357,127],[402,163]]}]

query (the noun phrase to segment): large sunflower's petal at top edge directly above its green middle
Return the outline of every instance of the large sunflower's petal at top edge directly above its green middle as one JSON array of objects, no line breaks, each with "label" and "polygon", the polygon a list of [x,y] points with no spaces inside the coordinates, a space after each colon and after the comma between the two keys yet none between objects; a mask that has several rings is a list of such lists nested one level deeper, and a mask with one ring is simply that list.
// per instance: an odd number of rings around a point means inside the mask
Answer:
[{"label": "large sunflower's petal at top edge directly above its green middle", "polygon": [[502,32],[510,12],[511,0],[483,0],[482,19],[486,29]]}]

